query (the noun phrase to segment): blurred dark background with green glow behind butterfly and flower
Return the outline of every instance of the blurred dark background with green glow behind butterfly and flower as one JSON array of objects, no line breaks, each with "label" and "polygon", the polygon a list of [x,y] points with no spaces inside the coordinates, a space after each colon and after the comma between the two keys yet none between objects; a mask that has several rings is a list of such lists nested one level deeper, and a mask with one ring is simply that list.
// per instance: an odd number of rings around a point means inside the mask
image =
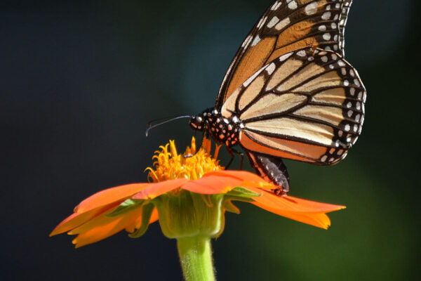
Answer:
[{"label": "blurred dark background with green glow behind butterfly and flower", "polygon": [[[270,4],[2,1],[1,280],[182,279],[157,223],[76,250],[48,233],[88,195],[146,181],[169,138],[185,148],[185,121],[145,138],[147,122],[213,106]],[[368,89],[363,133],[338,165],[287,163],[290,195],[347,209],[326,231],[239,204],[213,242],[218,280],[420,280],[419,11],[354,0],[346,53]]]}]

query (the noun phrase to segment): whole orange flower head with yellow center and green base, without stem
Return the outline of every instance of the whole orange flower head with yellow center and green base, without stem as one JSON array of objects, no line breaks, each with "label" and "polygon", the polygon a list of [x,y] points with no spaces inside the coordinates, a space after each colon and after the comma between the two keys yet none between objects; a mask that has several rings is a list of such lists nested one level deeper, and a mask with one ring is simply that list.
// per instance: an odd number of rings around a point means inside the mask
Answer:
[{"label": "whole orange flower head with yellow center and green base, without stem", "polygon": [[[147,168],[152,183],[121,185],[95,193],[83,200],[74,209],[74,214],[62,221],[51,236],[65,232],[77,235],[72,241],[77,248],[98,242],[123,229],[131,233],[131,237],[139,237],[145,233],[149,223],[160,218],[161,228],[167,237],[197,235],[197,231],[216,237],[223,230],[224,211],[239,214],[239,209],[232,204],[236,200],[327,229],[330,220],[326,213],[345,208],[291,196],[279,197],[272,191],[276,186],[255,174],[225,171],[217,159],[220,146],[217,145],[214,155],[210,155],[210,141],[207,139],[196,152],[196,143],[192,138],[192,146],[184,155],[178,154],[174,141],[160,148],[161,151],[156,151],[152,158],[156,159],[154,169]],[[198,207],[198,200],[205,203],[204,207]],[[190,202],[190,206],[186,202]],[[185,211],[187,209],[203,215],[192,216]],[[208,225],[203,226],[206,223]]]}]

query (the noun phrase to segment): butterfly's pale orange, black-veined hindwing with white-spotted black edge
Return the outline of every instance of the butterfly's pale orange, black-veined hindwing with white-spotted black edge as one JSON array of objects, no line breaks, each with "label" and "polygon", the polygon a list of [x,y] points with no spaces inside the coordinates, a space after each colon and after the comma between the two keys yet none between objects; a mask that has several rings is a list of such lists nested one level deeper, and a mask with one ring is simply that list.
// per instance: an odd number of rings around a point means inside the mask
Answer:
[{"label": "butterfly's pale orange, black-veined hindwing with white-spotted black edge", "polygon": [[358,73],[338,53],[302,48],[241,84],[222,115],[239,116],[246,150],[335,164],[361,133],[365,98]]}]

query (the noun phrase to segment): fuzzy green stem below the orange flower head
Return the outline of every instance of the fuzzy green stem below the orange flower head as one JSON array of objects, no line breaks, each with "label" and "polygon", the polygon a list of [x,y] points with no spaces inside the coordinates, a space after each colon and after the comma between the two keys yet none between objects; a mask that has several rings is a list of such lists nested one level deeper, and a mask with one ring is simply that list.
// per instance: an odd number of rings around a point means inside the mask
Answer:
[{"label": "fuzzy green stem below the orange flower head", "polygon": [[182,273],[186,281],[214,281],[210,238],[182,237],[177,240]]}]

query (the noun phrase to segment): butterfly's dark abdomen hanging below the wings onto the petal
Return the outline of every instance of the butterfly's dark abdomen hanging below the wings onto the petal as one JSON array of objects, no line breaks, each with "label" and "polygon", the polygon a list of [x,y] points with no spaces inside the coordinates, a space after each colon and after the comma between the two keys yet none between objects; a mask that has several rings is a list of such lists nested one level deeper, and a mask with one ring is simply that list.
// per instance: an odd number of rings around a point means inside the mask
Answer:
[{"label": "butterfly's dark abdomen hanging below the wings onto the petal", "polygon": [[285,195],[289,191],[289,175],[281,158],[252,151],[246,151],[246,154],[262,178],[279,186],[274,189],[276,195]]}]

